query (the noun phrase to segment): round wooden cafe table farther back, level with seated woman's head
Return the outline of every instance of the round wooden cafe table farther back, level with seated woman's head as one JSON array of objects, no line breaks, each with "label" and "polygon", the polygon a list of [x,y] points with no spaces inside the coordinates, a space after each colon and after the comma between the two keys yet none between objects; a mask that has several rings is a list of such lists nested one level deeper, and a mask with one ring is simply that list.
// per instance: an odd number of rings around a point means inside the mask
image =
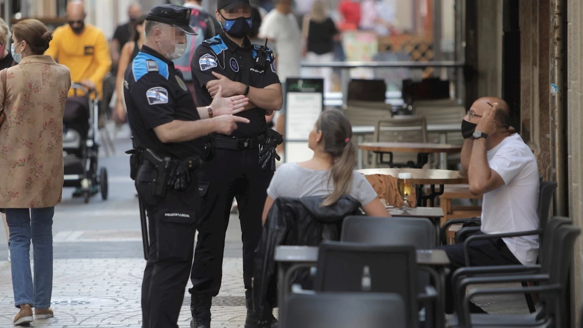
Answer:
[{"label": "round wooden cafe table farther back, level with seated woman's head", "polygon": [[[417,142],[364,142],[363,144],[359,144],[359,149],[380,153],[381,163],[388,164],[389,168],[408,166],[413,169],[421,169],[429,162],[430,153],[459,153],[462,151],[462,146]],[[413,161],[408,163],[393,163],[394,152],[417,153],[417,163],[413,163]],[[385,153],[389,154],[389,160],[387,162],[383,160]]]}]

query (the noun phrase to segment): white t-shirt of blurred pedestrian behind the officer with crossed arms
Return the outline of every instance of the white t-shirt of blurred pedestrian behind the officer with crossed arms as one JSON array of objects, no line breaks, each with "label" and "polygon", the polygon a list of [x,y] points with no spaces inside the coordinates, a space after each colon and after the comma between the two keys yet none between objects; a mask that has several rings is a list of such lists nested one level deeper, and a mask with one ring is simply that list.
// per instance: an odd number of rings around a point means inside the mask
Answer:
[{"label": "white t-shirt of blurred pedestrian behind the officer with crossed arms", "polygon": [[283,83],[286,78],[300,76],[301,32],[295,16],[273,9],[261,22],[259,35],[275,40],[279,81]]}]

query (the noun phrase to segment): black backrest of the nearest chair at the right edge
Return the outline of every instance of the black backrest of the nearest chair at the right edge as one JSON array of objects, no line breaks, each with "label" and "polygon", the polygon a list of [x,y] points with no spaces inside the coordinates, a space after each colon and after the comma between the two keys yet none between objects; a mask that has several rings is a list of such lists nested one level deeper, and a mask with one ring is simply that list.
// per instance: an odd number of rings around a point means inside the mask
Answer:
[{"label": "black backrest of the nearest chair at the right edge", "polygon": [[[561,286],[561,292],[555,297],[546,298],[547,315],[554,317],[556,327],[567,327],[568,315],[571,307],[571,300],[567,286],[569,285],[569,274],[573,255],[575,252],[575,240],[581,234],[581,228],[571,224],[560,225],[554,236],[554,256],[551,257],[549,284]],[[571,286],[573,288],[573,286]]]}]

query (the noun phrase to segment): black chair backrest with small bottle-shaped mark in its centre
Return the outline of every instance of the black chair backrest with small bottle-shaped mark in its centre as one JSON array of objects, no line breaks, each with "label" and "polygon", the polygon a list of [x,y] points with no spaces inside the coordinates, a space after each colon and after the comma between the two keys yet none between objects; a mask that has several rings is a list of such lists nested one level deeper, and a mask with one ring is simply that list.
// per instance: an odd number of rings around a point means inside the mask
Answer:
[{"label": "black chair backrest with small bottle-shaped mark in its centre", "polygon": [[317,268],[315,291],[399,294],[408,310],[407,326],[417,327],[415,247],[326,240],[319,247]]}]

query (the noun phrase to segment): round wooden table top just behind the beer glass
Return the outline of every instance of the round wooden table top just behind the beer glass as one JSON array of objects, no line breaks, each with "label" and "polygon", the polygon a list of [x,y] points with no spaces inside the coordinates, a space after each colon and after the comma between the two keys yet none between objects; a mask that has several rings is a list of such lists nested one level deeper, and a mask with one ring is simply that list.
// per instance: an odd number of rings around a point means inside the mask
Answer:
[{"label": "round wooden table top just behind the beer glass", "polygon": [[434,169],[363,169],[363,175],[389,175],[399,177],[399,173],[411,173],[416,184],[459,184],[468,183],[468,178],[460,171]]}]

